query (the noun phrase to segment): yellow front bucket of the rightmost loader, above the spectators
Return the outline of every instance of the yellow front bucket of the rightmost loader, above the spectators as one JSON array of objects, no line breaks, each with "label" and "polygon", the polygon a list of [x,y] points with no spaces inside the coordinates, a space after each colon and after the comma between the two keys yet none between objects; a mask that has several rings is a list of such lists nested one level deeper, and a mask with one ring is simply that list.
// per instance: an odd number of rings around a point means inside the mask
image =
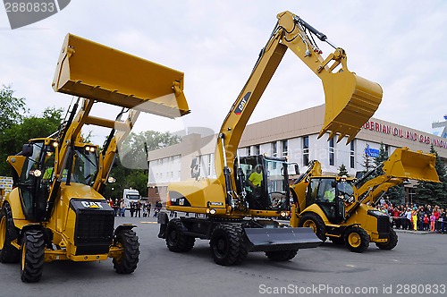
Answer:
[{"label": "yellow front bucket of the rightmost loader, above the spectators", "polygon": [[409,148],[396,148],[392,156],[384,162],[385,174],[424,182],[440,182],[434,164],[434,154],[411,151]]}]

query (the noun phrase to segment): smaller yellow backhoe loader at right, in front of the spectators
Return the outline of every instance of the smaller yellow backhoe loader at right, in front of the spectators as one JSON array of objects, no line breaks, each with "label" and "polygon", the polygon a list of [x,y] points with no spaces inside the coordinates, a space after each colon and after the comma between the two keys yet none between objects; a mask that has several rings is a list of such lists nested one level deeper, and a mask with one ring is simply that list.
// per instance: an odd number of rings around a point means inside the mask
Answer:
[{"label": "smaller yellow backhoe loader at right, in front of the spectators", "polygon": [[381,250],[392,250],[398,236],[390,217],[375,205],[388,189],[406,180],[439,182],[435,161],[434,154],[396,148],[358,180],[322,175],[320,163],[311,161],[308,171],[291,185],[295,202],[291,225],[310,227],[322,241],[329,238],[355,252],[366,250],[369,242]]}]

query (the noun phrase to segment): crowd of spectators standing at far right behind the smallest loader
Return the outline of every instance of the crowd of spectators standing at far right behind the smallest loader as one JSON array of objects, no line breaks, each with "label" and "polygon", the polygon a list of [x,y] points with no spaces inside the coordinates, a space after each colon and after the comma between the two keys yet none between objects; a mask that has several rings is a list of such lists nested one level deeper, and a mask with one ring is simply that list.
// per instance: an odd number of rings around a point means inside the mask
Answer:
[{"label": "crowd of spectators standing at far right behind the smallest loader", "polygon": [[381,199],[376,207],[392,218],[395,229],[447,232],[445,209],[437,205],[407,203],[394,206],[389,200]]}]

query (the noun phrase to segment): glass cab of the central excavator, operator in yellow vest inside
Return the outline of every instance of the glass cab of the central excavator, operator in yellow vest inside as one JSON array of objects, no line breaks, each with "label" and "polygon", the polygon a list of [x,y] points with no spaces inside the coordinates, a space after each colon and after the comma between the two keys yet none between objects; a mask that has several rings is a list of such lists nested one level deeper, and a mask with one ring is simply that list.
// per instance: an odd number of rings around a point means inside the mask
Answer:
[{"label": "glass cab of the central excavator, operator in yellow vest inside", "polygon": [[289,175],[283,158],[249,156],[236,158],[234,173],[238,194],[245,195],[250,209],[290,208]]}]

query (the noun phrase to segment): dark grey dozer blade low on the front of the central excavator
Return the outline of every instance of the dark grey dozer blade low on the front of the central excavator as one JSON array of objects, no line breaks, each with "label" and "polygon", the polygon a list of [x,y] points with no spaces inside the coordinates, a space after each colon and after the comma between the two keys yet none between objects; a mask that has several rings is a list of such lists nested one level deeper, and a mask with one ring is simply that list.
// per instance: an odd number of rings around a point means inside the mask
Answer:
[{"label": "dark grey dozer blade low on the front of the central excavator", "polygon": [[246,228],[249,251],[299,250],[322,243],[311,228]]}]

